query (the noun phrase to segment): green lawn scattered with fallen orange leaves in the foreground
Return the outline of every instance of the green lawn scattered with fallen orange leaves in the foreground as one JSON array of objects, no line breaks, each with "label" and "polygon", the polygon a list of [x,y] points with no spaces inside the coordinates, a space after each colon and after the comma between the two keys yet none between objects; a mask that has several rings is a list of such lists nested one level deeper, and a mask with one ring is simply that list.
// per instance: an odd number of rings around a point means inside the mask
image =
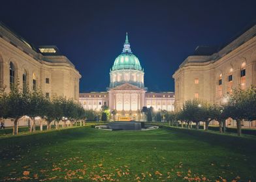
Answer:
[{"label": "green lawn scattered with fallen orange leaves in the foreground", "polygon": [[248,136],[76,127],[0,142],[0,181],[256,181]]}]

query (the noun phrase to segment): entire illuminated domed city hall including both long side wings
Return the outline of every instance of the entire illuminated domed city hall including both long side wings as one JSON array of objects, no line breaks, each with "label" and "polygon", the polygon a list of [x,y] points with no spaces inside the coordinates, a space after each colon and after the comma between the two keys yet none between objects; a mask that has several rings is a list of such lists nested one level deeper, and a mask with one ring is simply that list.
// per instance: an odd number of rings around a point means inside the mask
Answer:
[{"label": "entire illuminated domed city hall including both long side wings", "polygon": [[106,92],[80,93],[84,109],[100,110],[103,105],[117,110],[116,120],[131,117],[140,120],[142,107],[157,110],[174,110],[174,92],[148,92],[144,86],[144,70],[132,53],[126,35],[123,51],[110,69],[110,84]]}]

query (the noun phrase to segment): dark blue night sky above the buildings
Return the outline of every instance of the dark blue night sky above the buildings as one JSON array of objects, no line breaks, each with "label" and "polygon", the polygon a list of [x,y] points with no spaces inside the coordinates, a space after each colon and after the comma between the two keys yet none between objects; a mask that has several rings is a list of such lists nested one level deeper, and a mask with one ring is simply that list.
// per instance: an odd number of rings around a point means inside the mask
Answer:
[{"label": "dark blue night sky above the buildings", "polygon": [[253,25],[256,1],[2,1],[0,20],[35,45],[57,45],[81,73],[80,92],[105,91],[125,32],[149,91],[197,45],[222,45]]}]

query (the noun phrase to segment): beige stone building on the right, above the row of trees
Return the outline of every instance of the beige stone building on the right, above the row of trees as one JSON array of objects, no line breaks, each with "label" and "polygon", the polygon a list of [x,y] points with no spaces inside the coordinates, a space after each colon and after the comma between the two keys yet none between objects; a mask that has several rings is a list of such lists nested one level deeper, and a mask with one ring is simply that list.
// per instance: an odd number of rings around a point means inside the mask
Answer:
[{"label": "beige stone building on the right, above the row of trees", "polygon": [[256,85],[256,25],[217,52],[187,57],[172,76],[175,109],[188,99],[225,102],[232,88]]}]

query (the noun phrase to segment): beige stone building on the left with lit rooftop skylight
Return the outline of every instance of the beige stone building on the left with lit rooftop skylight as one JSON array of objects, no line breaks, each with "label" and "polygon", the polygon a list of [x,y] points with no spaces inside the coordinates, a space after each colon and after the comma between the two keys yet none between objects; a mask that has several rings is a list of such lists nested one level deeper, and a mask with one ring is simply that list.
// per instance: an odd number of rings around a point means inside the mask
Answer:
[{"label": "beige stone building on the left with lit rooftop skylight", "polygon": [[47,96],[64,96],[78,101],[80,73],[56,46],[33,47],[0,23],[0,86],[10,91],[40,89]]}]

